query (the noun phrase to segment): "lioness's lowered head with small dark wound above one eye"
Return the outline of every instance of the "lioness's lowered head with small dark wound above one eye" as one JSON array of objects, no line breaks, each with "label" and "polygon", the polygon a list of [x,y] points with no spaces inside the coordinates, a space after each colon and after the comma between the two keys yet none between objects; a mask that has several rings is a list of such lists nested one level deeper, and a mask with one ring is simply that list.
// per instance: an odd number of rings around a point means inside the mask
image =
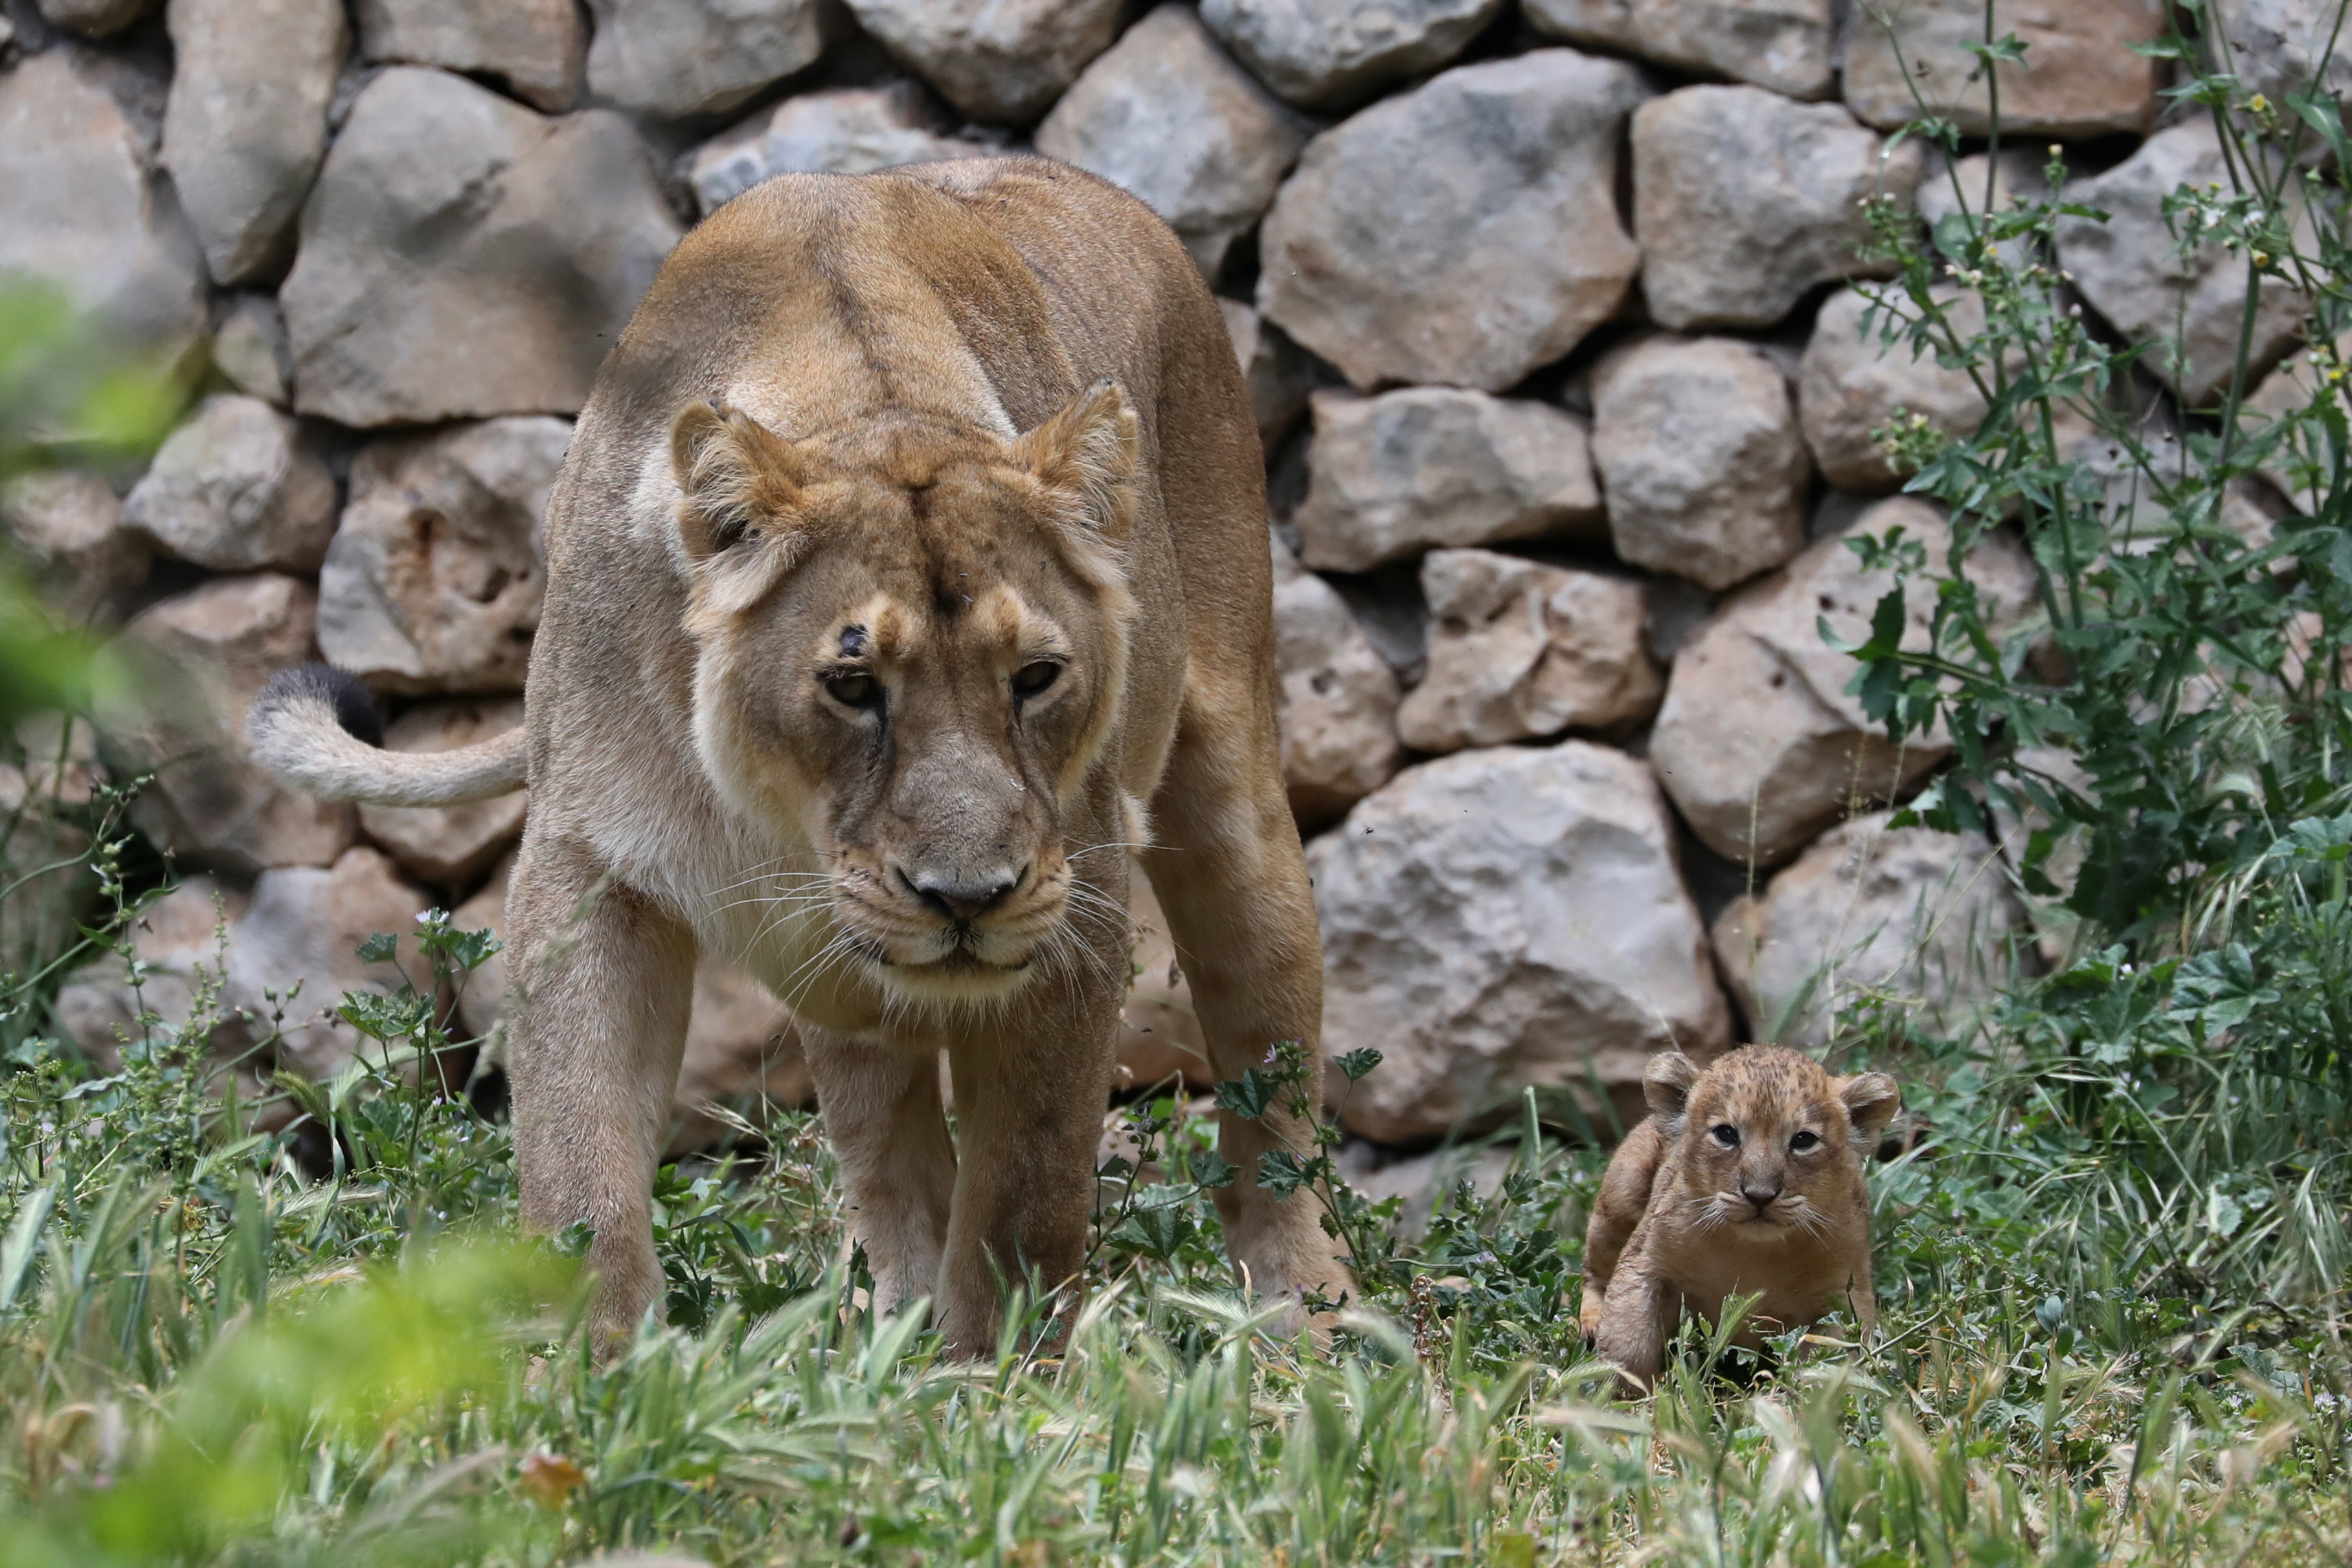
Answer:
[{"label": "lioness's lowered head with small dark wound above one eye", "polygon": [[1065,917],[1065,823],[1127,684],[1124,393],[1018,440],[891,414],[788,442],[696,402],[670,461],[703,764],[826,858],[889,990],[1009,992]]}]

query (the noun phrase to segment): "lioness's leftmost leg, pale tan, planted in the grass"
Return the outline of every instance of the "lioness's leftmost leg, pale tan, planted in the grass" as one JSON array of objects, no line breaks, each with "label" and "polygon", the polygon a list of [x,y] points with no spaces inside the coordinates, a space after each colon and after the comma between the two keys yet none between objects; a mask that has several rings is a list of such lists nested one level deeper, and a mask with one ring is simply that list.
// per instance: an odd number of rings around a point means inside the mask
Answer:
[{"label": "lioness's leftmost leg, pale tan, planted in the grass", "polygon": [[654,1166],[694,999],[694,933],[607,879],[586,846],[524,832],[506,952],[522,1222],[541,1234],[595,1229],[593,1331],[626,1338],[661,1300]]}]

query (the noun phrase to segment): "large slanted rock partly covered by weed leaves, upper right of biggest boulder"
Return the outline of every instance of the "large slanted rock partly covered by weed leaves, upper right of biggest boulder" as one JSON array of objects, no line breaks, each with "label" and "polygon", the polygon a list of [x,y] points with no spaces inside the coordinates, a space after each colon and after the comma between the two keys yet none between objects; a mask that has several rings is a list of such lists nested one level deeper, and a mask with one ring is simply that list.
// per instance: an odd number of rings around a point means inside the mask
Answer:
[{"label": "large slanted rock partly covered by weed leaves, upper right of biggest boulder", "polygon": [[[1879,501],[1844,534],[1724,599],[1675,654],[1649,759],[1691,832],[1726,860],[1778,865],[1846,816],[1849,802],[1884,804],[1950,755],[1940,729],[1893,745],[1846,696],[1853,658],[1820,639],[1820,621],[1846,639],[1867,635],[1891,576],[1863,571],[1846,538],[1893,527],[1943,567],[1952,538],[1943,515],[1907,496]],[[2002,632],[2034,611],[2032,564],[2006,536],[1980,538],[1966,574]],[[1933,585],[1915,576],[1903,646],[1926,646],[1933,604]]]}]

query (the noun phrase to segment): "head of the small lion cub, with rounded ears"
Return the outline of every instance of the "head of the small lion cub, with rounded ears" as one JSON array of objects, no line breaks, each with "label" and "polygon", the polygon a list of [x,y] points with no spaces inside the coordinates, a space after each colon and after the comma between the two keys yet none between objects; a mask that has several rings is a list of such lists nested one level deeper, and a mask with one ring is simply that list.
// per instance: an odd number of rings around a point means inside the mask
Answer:
[{"label": "head of the small lion cub, with rounded ears", "polygon": [[1752,1239],[1846,1218],[1863,1161],[1903,1107],[1884,1072],[1837,1079],[1783,1046],[1740,1046],[1705,1072],[1668,1051],[1642,1088],[1682,1152],[1691,1218]]}]

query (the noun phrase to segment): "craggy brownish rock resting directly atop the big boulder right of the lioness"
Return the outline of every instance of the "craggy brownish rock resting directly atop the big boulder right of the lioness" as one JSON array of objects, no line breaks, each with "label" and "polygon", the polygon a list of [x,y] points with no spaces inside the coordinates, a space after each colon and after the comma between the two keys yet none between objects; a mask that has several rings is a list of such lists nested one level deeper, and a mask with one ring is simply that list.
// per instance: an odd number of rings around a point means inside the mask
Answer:
[{"label": "craggy brownish rock resting directly atop the big boulder right of the lioness", "polygon": [[1494,550],[1421,557],[1430,672],[1397,708],[1416,752],[1646,719],[1665,682],[1642,646],[1639,581]]}]

